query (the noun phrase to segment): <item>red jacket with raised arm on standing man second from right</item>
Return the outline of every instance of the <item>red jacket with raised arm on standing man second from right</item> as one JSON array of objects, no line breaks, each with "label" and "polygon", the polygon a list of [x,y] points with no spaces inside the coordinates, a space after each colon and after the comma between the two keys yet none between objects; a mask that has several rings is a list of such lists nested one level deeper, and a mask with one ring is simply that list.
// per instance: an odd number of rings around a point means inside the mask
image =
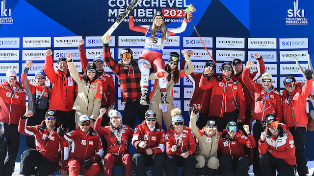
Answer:
[{"label": "red jacket with raised arm on standing man second from right", "polygon": [[266,90],[262,87],[262,84],[255,83],[252,79],[249,79],[250,69],[244,68],[242,77],[244,84],[254,93],[255,107],[252,107],[252,118],[259,121],[265,121],[265,116],[269,113],[275,114],[278,122],[283,117],[283,109],[281,104],[281,95],[272,86],[272,90],[266,93]]}]

